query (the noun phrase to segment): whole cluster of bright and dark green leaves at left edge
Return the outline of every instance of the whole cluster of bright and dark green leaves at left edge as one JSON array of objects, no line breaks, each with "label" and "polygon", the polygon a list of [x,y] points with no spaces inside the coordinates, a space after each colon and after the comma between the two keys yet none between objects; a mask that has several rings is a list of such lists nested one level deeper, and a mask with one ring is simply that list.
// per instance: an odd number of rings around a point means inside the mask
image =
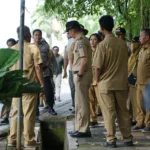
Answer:
[{"label": "whole cluster of bright and dark green leaves at left edge", "polygon": [[19,51],[0,49],[0,100],[2,103],[9,104],[8,98],[21,97],[23,93],[41,92],[39,83],[30,82],[23,77],[28,71],[8,70],[19,58]]}]

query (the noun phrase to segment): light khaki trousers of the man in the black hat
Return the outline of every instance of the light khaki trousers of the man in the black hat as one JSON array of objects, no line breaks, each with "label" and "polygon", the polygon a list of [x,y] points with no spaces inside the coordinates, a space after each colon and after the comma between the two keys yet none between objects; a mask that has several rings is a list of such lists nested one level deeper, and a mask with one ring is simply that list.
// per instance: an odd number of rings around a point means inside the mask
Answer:
[{"label": "light khaki trousers of the man in the black hat", "polygon": [[86,72],[80,81],[77,81],[76,78],[78,77],[75,74],[75,130],[87,132],[89,131],[90,122],[88,91],[92,81],[92,75],[91,73]]}]

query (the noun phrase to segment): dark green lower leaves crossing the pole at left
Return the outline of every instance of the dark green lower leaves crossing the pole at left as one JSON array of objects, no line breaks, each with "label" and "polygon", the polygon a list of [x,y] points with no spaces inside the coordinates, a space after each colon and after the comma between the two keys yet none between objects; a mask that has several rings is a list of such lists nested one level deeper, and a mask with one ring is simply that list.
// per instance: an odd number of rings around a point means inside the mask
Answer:
[{"label": "dark green lower leaves crossing the pole at left", "polygon": [[22,93],[40,93],[42,89],[37,82],[30,82],[23,75],[27,71],[13,70],[6,71],[5,75],[0,77],[0,99],[5,97],[20,97]]}]

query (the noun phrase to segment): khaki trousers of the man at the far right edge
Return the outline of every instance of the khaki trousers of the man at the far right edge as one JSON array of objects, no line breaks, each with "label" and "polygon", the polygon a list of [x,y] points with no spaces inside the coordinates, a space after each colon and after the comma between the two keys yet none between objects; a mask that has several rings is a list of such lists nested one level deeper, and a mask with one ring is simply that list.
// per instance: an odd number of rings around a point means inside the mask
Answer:
[{"label": "khaki trousers of the man at the far right edge", "polygon": [[143,127],[149,126],[150,127],[150,112],[144,110],[143,108],[143,91],[144,91],[145,85],[137,85],[137,117],[136,126]]}]

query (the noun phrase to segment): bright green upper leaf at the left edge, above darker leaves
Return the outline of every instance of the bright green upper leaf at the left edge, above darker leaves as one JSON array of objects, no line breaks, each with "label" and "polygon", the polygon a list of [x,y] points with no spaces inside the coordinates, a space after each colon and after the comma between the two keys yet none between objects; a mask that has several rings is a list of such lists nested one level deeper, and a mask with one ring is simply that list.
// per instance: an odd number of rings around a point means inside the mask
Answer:
[{"label": "bright green upper leaf at the left edge, above darker leaves", "polygon": [[20,58],[20,51],[9,48],[0,49],[0,71],[6,71]]}]

